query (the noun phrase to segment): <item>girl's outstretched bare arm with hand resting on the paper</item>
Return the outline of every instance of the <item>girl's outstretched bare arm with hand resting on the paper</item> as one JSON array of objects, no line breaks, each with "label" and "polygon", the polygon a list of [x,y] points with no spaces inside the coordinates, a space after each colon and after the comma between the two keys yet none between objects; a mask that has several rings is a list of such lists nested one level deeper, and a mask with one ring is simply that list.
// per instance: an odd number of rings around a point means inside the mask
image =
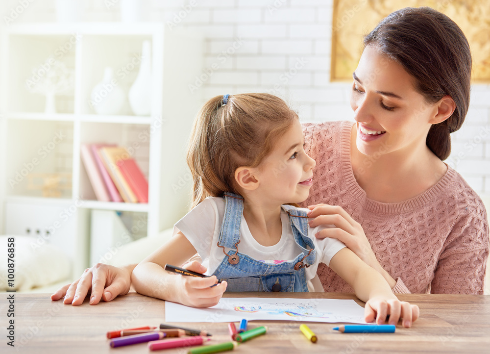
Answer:
[{"label": "girl's outstretched bare arm with hand resting on the paper", "polygon": [[360,300],[366,302],[366,322],[376,320],[377,324],[382,324],[390,315],[390,324],[396,325],[403,318],[403,326],[408,328],[417,320],[418,306],[399,301],[381,274],[350,249],[343,248],[336,253],[328,266],[354,288]]}]

